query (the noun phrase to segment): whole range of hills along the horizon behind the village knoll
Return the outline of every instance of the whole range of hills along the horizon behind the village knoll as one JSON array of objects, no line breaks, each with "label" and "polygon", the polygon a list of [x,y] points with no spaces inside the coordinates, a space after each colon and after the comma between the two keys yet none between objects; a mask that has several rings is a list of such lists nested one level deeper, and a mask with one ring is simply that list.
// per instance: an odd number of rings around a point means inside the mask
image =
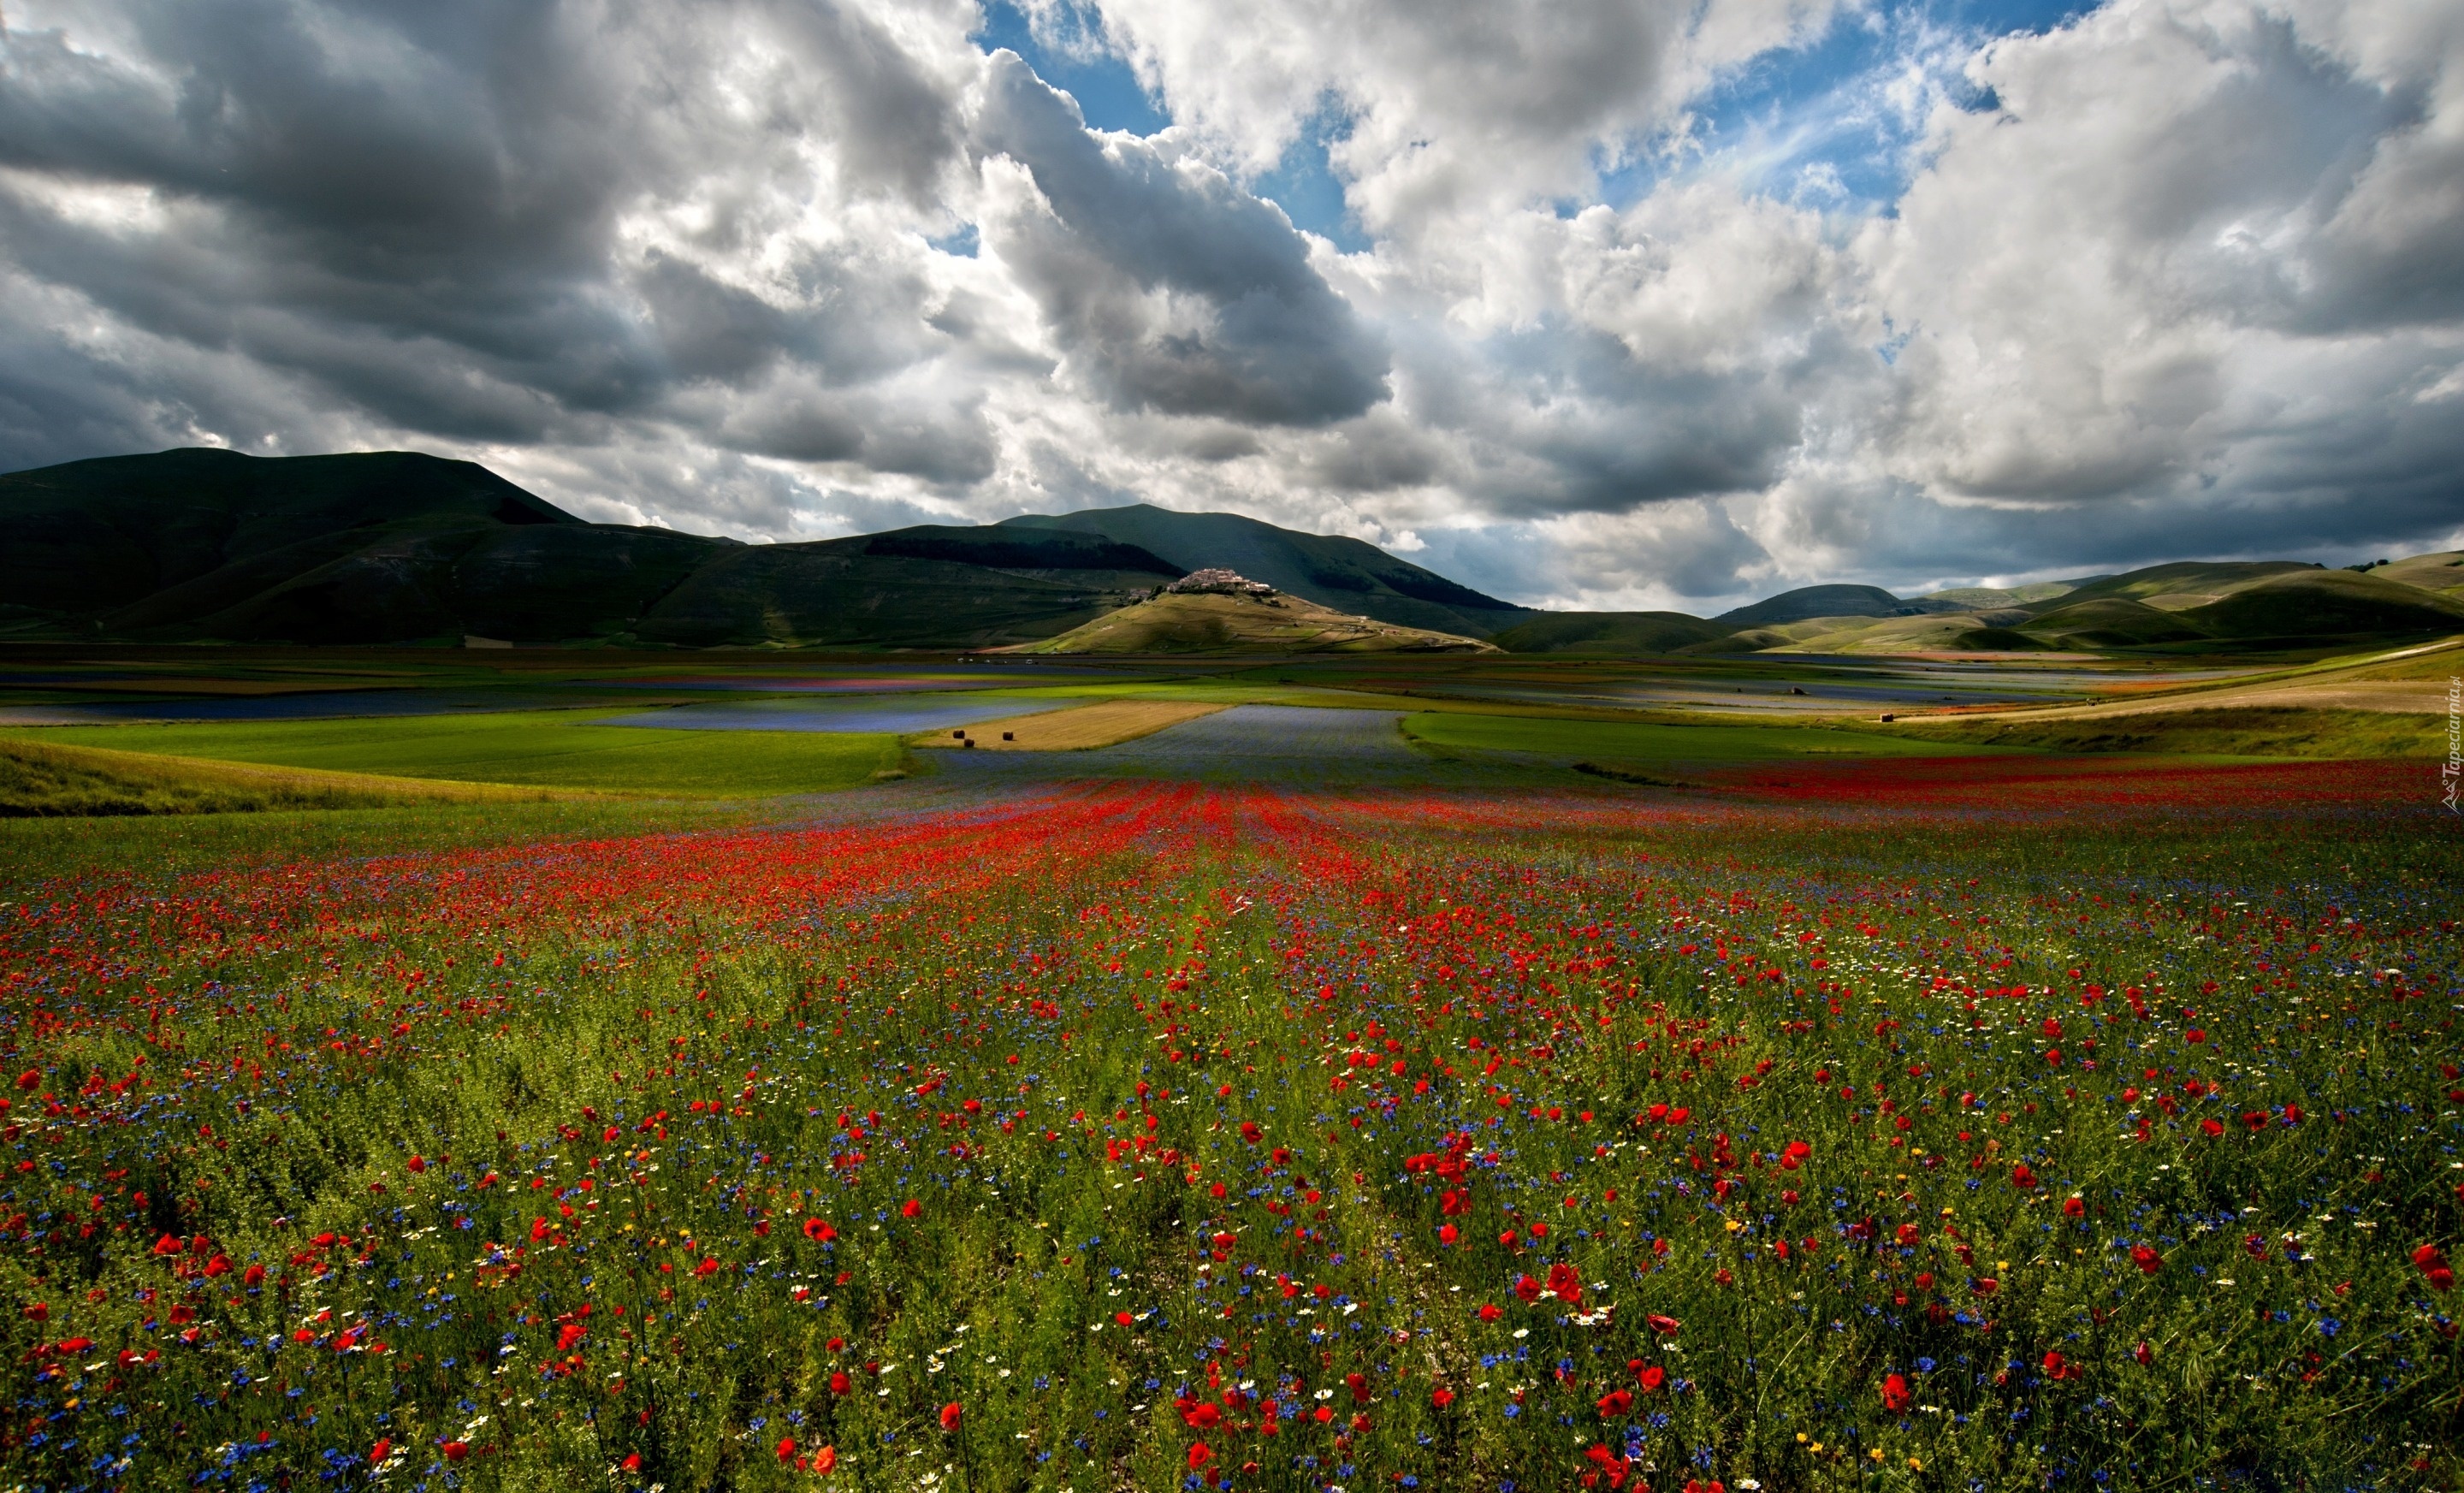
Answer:
[{"label": "whole range of hills along the horizon behind the village knoll", "polygon": [[1360,540],[1151,505],[744,544],[584,522],[468,461],[180,448],[0,475],[0,638],[998,648],[1207,567],[1513,653],[2250,650],[2464,631],[2464,554],[1552,613]]}]

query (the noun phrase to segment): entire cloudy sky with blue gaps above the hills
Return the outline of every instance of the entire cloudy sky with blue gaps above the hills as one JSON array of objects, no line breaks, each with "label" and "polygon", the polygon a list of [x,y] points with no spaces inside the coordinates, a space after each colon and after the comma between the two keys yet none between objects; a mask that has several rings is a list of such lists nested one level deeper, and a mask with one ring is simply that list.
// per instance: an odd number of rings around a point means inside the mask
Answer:
[{"label": "entire cloudy sky with blue gaps above the hills", "polygon": [[1501,596],[2464,542],[2454,0],[7,0],[0,468]]}]

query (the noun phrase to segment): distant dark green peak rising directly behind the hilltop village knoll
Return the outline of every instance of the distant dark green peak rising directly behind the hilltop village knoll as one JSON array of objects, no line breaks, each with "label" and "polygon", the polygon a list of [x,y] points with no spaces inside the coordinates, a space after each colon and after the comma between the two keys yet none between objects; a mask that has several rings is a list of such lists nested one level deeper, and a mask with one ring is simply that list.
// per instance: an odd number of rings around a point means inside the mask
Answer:
[{"label": "distant dark green peak rising directly behind the hilltop village knoll", "polygon": [[1237,569],[1276,591],[1303,596],[1335,611],[1439,633],[1486,638],[1542,616],[1459,586],[1446,577],[1395,559],[1375,544],[1340,535],[1301,535],[1237,512],[1173,512],[1148,503],[1092,508],[1064,515],[1000,520],[1000,530],[1074,530],[1136,544],[1180,567]]}]

